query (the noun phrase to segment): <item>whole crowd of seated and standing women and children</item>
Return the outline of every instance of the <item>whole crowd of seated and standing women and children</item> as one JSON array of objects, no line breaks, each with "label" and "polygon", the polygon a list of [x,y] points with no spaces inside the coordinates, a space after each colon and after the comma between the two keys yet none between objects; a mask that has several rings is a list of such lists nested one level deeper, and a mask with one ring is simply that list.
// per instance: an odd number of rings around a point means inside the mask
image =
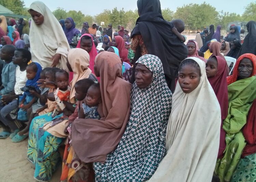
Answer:
[{"label": "whole crowd of seated and standing women and children", "polygon": [[256,22],[187,41],[159,0],[137,6],[130,35],[40,1],[31,22],[0,16],[0,139],[28,138],[42,182],[61,164],[61,182],[254,182]]}]

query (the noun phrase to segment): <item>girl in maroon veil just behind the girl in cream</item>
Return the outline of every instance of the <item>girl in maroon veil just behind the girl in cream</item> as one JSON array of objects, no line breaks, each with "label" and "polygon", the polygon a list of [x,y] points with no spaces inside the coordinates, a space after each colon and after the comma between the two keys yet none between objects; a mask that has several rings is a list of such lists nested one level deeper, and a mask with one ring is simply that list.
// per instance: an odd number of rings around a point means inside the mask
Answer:
[{"label": "girl in maroon veil just behind the girl in cream", "polygon": [[221,136],[219,141],[218,159],[223,157],[223,151],[226,148],[226,132],[222,128],[223,121],[228,115],[228,84],[227,84],[227,70],[228,65],[225,59],[219,56],[212,56],[206,63],[206,75],[211,84],[214,93],[221,106]]}]

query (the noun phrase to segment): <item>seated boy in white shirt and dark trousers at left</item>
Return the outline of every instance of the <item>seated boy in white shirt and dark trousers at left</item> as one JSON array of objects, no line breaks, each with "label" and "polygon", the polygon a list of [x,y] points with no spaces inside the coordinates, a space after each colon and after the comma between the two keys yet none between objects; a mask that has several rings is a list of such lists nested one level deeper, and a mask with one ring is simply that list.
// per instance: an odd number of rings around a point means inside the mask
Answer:
[{"label": "seated boy in white shirt and dark trousers at left", "polygon": [[17,49],[14,52],[12,64],[15,66],[17,65],[16,71],[13,73],[16,78],[16,83],[14,85],[14,91],[8,95],[3,95],[1,99],[3,105],[0,106],[0,125],[3,127],[3,131],[0,133],[0,139],[7,138],[10,134],[10,138],[13,138],[22,126],[19,122],[14,122],[15,117],[12,117],[10,113],[18,108],[17,98],[23,94],[23,91],[21,91],[20,88],[25,87],[26,85],[26,67],[30,60],[31,53],[28,50]]}]

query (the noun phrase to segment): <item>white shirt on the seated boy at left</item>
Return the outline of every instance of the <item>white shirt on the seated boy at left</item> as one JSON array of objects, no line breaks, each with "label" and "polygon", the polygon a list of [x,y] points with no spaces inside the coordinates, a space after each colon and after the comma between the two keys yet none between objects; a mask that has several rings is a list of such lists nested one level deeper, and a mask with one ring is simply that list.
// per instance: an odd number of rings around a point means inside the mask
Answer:
[{"label": "white shirt on the seated boy at left", "polygon": [[16,73],[15,73],[15,80],[16,83],[14,85],[14,92],[16,95],[23,94],[23,91],[20,90],[20,88],[26,86],[27,81],[27,71],[20,71],[19,66],[16,67]]}]

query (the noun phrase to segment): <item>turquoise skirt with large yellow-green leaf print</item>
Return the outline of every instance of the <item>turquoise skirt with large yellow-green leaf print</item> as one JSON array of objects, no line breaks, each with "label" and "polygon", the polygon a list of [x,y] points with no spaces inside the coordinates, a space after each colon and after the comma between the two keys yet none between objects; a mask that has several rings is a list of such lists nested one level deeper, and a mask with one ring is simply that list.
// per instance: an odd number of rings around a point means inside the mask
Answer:
[{"label": "turquoise skirt with large yellow-green leaf print", "polygon": [[61,164],[58,147],[64,138],[53,136],[43,130],[45,123],[52,121],[63,114],[52,118],[52,112],[35,117],[29,128],[27,158],[35,165],[34,178],[39,181],[51,180],[53,172]]}]

